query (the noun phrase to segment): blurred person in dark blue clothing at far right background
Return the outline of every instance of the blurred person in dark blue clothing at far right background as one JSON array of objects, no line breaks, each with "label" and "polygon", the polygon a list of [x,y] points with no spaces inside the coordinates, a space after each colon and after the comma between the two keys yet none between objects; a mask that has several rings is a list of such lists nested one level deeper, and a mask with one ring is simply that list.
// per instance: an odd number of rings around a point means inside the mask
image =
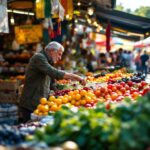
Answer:
[{"label": "blurred person in dark blue clothing at far right background", "polygon": [[147,76],[149,56],[146,51],[144,51],[144,54],[141,55],[140,59],[141,59],[141,71],[143,74],[145,74],[145,76]]}]

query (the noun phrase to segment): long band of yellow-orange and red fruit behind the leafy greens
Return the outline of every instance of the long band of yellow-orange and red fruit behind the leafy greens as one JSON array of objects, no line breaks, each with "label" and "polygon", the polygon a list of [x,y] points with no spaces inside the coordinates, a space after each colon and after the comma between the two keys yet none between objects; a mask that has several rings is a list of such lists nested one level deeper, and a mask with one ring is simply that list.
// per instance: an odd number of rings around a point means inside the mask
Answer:
[{"label": "long band of yellow-orange and red fruit behind the leafy greens", "polygon": [[[113,76],[116,76],[116,74]],[[50,111],[60,110],[64,104],[70,104],[75,107],[95,107],[98,102],[104,102],[108,107],[110,102],[121,102],[125,97],[136,100],[139,96],[143,96],[150,91],[150,85],[143,81],[142,76],[137,77],[136,75],[130,75],[128,78],[119,77],[119,80],[111,78],[107,84],[99,84],[97,87],[95,87],[95,84],[93,85],[94,87],[76,89],[75,84],[74,90],[55,91],[48,99],[40,99],[40,104],[34,114],[39,116],[48,115]]]}]

